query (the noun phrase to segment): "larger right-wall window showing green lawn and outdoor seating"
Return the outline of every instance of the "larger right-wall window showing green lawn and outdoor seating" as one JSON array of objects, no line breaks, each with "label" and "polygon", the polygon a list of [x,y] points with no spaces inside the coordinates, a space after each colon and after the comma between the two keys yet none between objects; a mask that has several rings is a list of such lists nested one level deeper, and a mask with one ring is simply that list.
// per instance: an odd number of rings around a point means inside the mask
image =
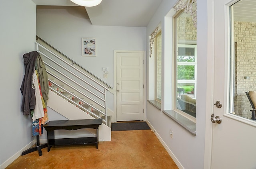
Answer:
[{"label": "larger right-wall window showing green lawn and outdoor seating", "polygon": [[[196,117],[196,28],[192,17],[181,12],[175,18],[175,105],[181,114]],[[189,116],[188,116],[189,115]]]}]

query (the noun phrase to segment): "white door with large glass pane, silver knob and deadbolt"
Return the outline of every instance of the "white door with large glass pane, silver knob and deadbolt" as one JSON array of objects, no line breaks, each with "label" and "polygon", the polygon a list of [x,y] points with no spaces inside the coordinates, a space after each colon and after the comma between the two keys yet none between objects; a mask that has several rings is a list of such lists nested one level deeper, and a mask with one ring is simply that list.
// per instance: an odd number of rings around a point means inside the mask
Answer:
[{"label": "white door with large glass pane, silver knob and deadbolt", "polygon": [[[235,66],[240,64],[240,61],[236,59],[233,60],[232,57],[230,59],[230,56],[235,54],[233,45],[236,41],[233,41],[233,38],[230,39],[230,33],[231,37],[233,36],[232,29],[234,24],[233,21],[230,21],[230,16],[233,16],[233,14],[229,12],[230,6],[233,6],[237,1],[238,0],[214,0],[214,103],[220,101],[222,102],[222,107],[217,108],[217,106],[214,106],[213,116],[214,118],[219,116],[222,122],[220,124],[213,124],[212,169],[256,169],[256,121],[238,116],[237,114],[240,112],[236,112],[236,108],[234,109],[238,102],[234,101],[233,93],[236,93],[234,91],[242,87],[242,85],[236,83],[236,86],[232,83],[237,81],[235,80],[236,73],[234,73],[233,70]],[[254,0],[243,0],[241,2],[254,2]],[[248,7],[252,7],[252,4],[247,6],[247,10]],[[254,6],[254,11],[256,11],[255,7],[256,6]],[[231,29],[230,26],[232,27]],[[245,28],[246,26],[240,28],[239,31],[244,31]],[[254,27],[254,29],[256,28]],[[242,34],[241,32],[241,35]],[[243,35],[246,35],[246,33],[244,32]],[[249,36],[256,37],[255,34],[250,34]],[[240,42],[246,37],[242,36],[241,38],[242,39],[239,40]],[[254,45],[252,48],[254,48],[252,50],[255,51],[256,46]],[[242,49],[240,52],[236,53],[236,55],[244,55],[241,51]],[[254,61],[252,59],[253,58],[251,58],[251,63],[248,64],[255,62],[256,58],[254,58]],[[244,69],[239,68],[237,71],[242,72]],[[241,80],[241,83],[244,84],[246,81]],[[253,82],[251,86],[256,88],[256,82]],[[250,90],[250,88],[245,88],[244,91],[237,96],[244,98],[243,104],[241,105],[242,109],[244,109],[245,105],[249,102],[248,99],[244,97],[246,96],[245,92],[248,90]],[[250,110],[248,110],[248,112],[250,113]],[[209,119],[209,123],[210,122]]]}]

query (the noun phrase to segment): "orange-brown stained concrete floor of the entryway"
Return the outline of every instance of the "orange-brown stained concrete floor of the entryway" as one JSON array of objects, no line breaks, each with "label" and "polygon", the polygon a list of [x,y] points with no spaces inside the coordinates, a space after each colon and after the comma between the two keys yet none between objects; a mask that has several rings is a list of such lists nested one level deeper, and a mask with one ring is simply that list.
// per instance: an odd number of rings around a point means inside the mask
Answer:
[{"label": "orange-brown stained concrete floor of the entryway", "polygon": [[178,169],[151,130],[112,132],[111,141],[53,146],[18,157],[6,169]]}]

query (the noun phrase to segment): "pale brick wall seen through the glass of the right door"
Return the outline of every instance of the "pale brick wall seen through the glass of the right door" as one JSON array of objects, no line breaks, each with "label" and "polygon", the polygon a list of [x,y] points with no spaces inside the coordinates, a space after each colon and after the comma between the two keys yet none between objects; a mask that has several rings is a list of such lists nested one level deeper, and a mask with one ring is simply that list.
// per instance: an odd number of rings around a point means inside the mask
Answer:
[{"label": "pale brick wall seen through the glass of the right door", "polygon": [[256,23],[234,21],[234,42],[234,112],[250,119],[252,107],[245,92],[256,90]]}]

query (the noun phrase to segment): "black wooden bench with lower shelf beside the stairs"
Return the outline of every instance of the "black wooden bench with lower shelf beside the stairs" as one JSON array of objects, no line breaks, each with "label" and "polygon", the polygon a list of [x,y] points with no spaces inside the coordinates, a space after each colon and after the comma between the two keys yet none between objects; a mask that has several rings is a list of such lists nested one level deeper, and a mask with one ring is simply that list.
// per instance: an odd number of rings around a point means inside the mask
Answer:
[{"label": "black wooden bench with lower shelf beside the stairs", "polygon": [[[73,145],[73,144],[95,144],[98,149],[98,127],[102,124],[102,118],[83,120],[54,120],[44,124],[47,131],[48,152],[53,145]],[[55,130],[77,130],[81,128],[96,129],[96,136],[83,138],[58,138],[55,139]]]}]

